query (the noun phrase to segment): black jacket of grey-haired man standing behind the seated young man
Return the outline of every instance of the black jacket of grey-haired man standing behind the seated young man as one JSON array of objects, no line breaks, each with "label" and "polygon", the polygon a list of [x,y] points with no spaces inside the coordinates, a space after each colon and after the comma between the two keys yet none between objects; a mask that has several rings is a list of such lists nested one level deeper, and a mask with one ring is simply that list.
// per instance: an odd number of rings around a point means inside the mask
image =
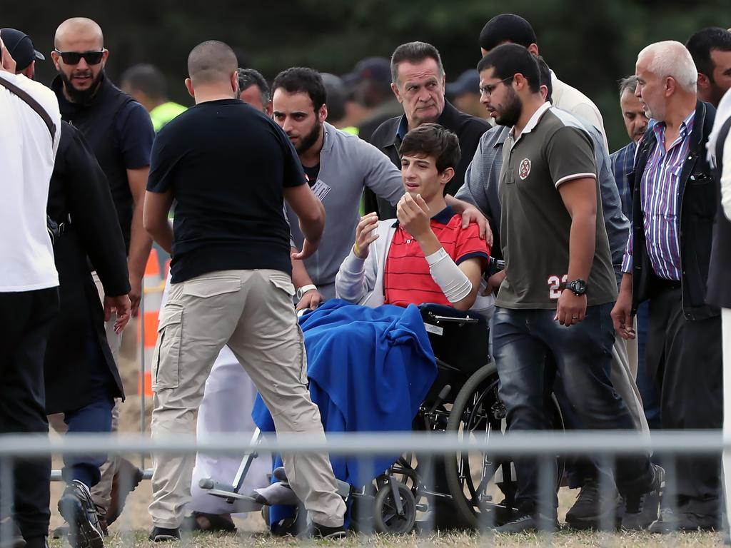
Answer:
[{"label": "black jacket of grey-haired man standing behind the seated young man", "polygon": [[[399,169],[401,169],[401,156],[398,154],[398,148],[401,146],[401,138],[398,137],[397,132],[398,126],[404,117],[405,115],[396,116],[385,121],[371,137],[371,145],[385,153]],[[477,145],[480,144],[480,137],[490,129],[490,124],[482,118],[457,110],[448,101],[444,101],[444,110],[439,115],[437,122],[449,129],[450,132],[454,132],[459,139],[462,156],[455,169],[455,176],[444,188],[444,194],[454,196],[464,183],[464,175],[467,172],[469,163],[472,161],[474,151],[477,150]],[[376,197],[376,194],[370,189],[366,189],[363,193],[363,199],[366,213],[375,211],[381,219],[395,218],[396,208],[385,199]]]}]

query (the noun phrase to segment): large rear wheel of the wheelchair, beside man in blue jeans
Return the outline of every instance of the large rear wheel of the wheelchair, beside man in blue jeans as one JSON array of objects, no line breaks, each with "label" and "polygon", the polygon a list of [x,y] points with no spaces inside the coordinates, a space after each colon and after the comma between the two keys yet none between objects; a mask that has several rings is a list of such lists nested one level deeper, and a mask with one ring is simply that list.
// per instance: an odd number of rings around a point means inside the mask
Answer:
[{"label": "large rear wheel of the wheelchair, beside man in blue jeans", "polygon": [[[506,424],[505,406],[498,395],[498,374],[494,362],[477,370],[458,392],[452,406],[447,432],[461,437],[489,440],[501,436]],[[557,430],[563,430],[563,420],[558,403],[553,399],[554,420]],[[564,461],[558,458],[558,479],[563,475]],[[502,479],[496,476],[501,471]],[[455,508],[471,527],[480,528],[486,521],[483,512],[492,512],[491,520],[501,525],[510,519],[515,501],[515,481],[512,479],[512,460],[509,457],[493,458],[489,454],[453,454],[445,458],[447,485]],[[558,488],[558,485],[557,485]],[[501,503],[495,496],[504,497]]]}]

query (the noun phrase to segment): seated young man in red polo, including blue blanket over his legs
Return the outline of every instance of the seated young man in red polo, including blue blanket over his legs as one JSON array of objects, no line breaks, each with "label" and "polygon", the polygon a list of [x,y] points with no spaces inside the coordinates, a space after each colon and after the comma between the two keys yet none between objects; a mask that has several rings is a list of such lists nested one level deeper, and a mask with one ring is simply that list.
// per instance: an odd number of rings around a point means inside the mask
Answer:
[{"label": "seated young man in red polo, including blue blanket over his legs", "polygon": [[[444,201],[444,185],[460,159],[456,135],[436,123],[423,124],[406,134],[401,157],[406,194],[397,205],[398,219],[379,221],[374,213],[361,218],[352,250],[336,276],[341,301],[328,301],[300,321],[310,391],[325,410],[326,431],[409,429],[433,384],[436,366],[420,313],[407,307],[434,303],[469,310],[488,265],[488,246],[477,224],[463,229],[462,217]],[[380,305],[407,310],[372,310]],[[384,336],[396,330],[398,337]],[[405,331],[411,332],[404,336]],[[423,351],[414,351],[415,346]],[[430,354],[428,359],[424,354]],[[352,386],[357,394],[350,391]],[[379,388],[371,390],[374,386]],[[398,412],[386,413],[379,400],[401,402]],[[252,416],[263,431],[270,430],[260,402]],[[393,463],[385,460],[369,473],[382,473]],[[355,472],[357,466],[357,459],[333,460],[338,479],[351,484],[363,477]],[[256,490],[254,498],[271,503],[270,497],[280,494],[279,488]]]}]

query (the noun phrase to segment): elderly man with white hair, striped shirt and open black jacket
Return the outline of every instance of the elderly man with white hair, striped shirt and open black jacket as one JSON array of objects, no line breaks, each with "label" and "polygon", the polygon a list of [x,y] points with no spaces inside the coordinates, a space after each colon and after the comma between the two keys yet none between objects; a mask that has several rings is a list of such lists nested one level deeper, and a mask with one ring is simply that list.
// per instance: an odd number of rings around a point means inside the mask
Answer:
[{"label": "elderly man with white hair, striped shirt and open black jacket", "polygon": [[[715,110],[697,100],[697,69],[680,42],[657,42],[637,56],[635,95],[652,118],[640,142],[633,223],[612,311],[615,328],[634,338],[632,316],[649,300],[647,368],[661,387],[662,427],[721,428],[721,319],[706,304],[718,181],[705,145]],[[650,530],[719,528],[720,461],[679,457],[675,481]]]}]

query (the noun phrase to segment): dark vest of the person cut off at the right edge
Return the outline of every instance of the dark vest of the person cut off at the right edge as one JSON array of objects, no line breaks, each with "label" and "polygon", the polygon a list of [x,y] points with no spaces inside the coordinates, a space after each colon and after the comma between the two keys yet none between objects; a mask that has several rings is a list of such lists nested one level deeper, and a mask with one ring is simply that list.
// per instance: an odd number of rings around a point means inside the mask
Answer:
[{"label": "dark vest of the person cut off at the right edge", "polygon": [[[716,141],[716,178],[721,180],[724,169],[724,144],[731,131],[731,117],[724,122]],[[731,166],[726,166],[731,170]],[[716,213],[716,225],[713,228],[713,247],[711,248],[711,266],[708,269],[708,303],[721,308],[731,308],[731,221],[720,207]]]}]

